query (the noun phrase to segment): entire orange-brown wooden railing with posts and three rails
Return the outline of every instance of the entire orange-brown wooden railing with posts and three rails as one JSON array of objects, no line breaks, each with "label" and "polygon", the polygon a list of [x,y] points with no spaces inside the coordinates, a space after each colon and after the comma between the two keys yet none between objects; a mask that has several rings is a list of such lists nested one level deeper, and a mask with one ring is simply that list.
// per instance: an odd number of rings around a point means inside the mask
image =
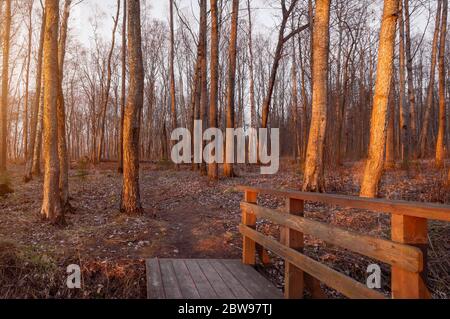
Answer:
[{"label": "entire orange-brown wooden railing with posts and three rails", "polygon": [[[285,296],[302,298],[305,287],[313,297],[323,297],[319,282],[349,298],[385,298],[376,290],[345,276],[304,255],[303,235],[389,264],[392,298],[430,298],[426,286],[428,220],[450,221],[450,206],[406,201],[278,191],[239,186],[245,193],[241,203],[244,264],[255,265],[256,253],[263,263],[270,250],[285,260]],[[286,198],[286,212],[257,205],[258,194]],[[305,201],[321,202],[343,208],[358,208],[391,214],[391,240],[348,231],[303,217]],[[280,241],[256,231],[256,219],[263,218],[283,227]]]}]

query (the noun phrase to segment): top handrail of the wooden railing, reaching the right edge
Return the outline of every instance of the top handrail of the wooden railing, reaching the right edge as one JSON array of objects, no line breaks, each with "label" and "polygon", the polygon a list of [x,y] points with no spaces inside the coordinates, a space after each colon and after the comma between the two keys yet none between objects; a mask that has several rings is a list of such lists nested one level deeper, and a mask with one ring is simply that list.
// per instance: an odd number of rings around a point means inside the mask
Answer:
[{"label": "top handrail of the wooden railing, reaching the right edge", "polygon": [[363,198],[336,194],[282,191],[247,186],[238,186],[237,189],[241,191],[256,192],[259,194],[321,202],[325,204],[341,206],[343,208],[359,208],[367,209],[372,212],[391,213],[433,220],[450,221],[449,205],[398,200],[389,201],[385,199]]}]

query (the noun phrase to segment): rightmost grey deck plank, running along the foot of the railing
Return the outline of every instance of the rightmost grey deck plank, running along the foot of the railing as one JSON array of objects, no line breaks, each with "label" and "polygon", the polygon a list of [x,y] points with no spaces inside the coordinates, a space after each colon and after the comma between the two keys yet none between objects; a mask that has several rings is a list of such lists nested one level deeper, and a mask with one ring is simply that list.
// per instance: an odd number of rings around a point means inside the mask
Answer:
[{"label": "rightmost grey deck plank, running along the foot of the railing", "polygon": [[222,263],[246,287],[254,299],[282,299],[281,292],[251,266],[238,260],[223,260]]}]

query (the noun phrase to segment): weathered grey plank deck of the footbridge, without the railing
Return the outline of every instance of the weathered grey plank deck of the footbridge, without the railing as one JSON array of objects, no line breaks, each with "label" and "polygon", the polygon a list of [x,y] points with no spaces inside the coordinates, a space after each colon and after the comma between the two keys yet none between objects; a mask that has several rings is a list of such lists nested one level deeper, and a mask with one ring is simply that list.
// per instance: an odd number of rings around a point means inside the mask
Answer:
[{"label": "weathered grey plank deck of the footbridge, without the railing", "polygon": [[283,294],[240,260],[148,259],[149,299],[281,299]]}]

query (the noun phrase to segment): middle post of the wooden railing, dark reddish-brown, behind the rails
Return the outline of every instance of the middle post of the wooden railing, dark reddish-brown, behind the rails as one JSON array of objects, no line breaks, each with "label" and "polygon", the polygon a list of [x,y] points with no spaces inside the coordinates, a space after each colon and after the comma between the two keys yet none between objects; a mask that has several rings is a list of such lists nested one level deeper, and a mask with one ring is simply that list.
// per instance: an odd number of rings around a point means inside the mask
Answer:
[{"label": "middle post of the wooden railing, dark reddish-brown, behind the rails", "polygon": [[[304,201],[288,198],[287,213],[296,216],[303,216]],[[303,233],[289,228],[284,228],[282,236],[283,244],[298,251],[303,251]],[[284,238],[283,238],[284,237]],[[285,288],[284,295],[287,299],[302,299],[304,295],[304,273],[299,268],[286,262],[285,265]]]}]

